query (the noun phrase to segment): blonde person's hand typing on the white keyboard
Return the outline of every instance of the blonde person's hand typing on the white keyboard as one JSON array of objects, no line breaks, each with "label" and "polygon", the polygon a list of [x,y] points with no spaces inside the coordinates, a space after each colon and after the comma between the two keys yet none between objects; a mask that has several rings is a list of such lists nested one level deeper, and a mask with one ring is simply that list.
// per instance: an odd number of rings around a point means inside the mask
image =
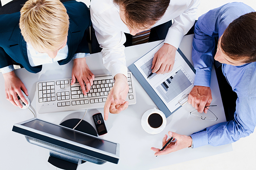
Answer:
[{"label": "blonde person's hand typing on the white keyboard", "polygon": [[[85,58],[77,58],[74,60],[71,85],[74,85],[75,79],[78,80],[83,94],[86,95],[86,92],[90,91],[90,88],[93,85],[94,74],[87,66]],[[87,88],[85,88],[84,83]]]}]

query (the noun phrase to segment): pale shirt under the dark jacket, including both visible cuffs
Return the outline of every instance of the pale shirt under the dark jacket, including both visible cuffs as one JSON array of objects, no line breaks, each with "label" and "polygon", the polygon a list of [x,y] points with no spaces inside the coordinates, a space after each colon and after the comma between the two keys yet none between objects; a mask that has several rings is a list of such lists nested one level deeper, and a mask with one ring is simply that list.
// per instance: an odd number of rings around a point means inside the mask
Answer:
[{"label": "pale shirt under the dark jacket, including both visible cuffs", "polygon": [[[32,47],[32,45],[29,43],[26,44],[26,47],[27,47],[27,55],[28,55],[28,59],[29,59],[29,64],[33,67],[39,66],[42,64],[57,62],[60,60],[64,60],[68,57],[68,44],[66,44],[64,48],[62,48],[58,51],[57,56],[54,59],[50,58],[48,56],[48,54],[46,54],[46,53],[37,52]],[[88,57],[88,56],[90,56],[90,54],[88,54],[88,53],[77,53],[74,55],[73,60],[77,59],[77,58]],[[1,68],[1,72],[3,74],[7,73],[7,72],[11,72],[13,70],[14,70],[13,65]]]}]

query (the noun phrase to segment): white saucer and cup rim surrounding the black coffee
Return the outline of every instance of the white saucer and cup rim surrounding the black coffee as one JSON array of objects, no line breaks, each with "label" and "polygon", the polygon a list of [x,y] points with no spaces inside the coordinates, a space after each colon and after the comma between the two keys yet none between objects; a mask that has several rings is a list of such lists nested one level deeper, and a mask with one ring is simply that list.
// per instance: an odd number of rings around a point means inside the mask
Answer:
[{"label": "white saucer and cup rim surrounding the black coffee", "polygon": [[[154,110],[155,110],[155,111],[154,111]],[[163,118],[163,123],[162,123],[162,125],[161,125],[159,128],[152,128],[152,127],[150,127],[149,124],[148,124],[148,117],[149,117],[149,115],[150,115],[152,112],[154,112],[154,113],[159,113],[159,114],[162,116],[162,118]],[[150,134],[157,134],[157,133],[160,133],[160,132],[163,131],[163,129],[165,129],[165,126],[166,126],[166,117],[165,117],[165,114],[162,113],[161,110],[158,110],[158,109],[156,109],[156,108],[147,110],[147,111],[143,114],[143,116],[142,116],[142,118],[141,118],[141,125],[142,125],[143,129],[144,129],[146,132],[150,133]]]}]

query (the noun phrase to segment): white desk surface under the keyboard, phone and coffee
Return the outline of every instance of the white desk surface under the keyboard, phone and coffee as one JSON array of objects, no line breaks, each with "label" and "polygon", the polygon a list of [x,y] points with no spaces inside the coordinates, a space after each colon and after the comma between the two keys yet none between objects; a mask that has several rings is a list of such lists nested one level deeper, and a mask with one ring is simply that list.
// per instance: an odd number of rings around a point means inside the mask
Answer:
[{"label": "white desk surface under the keyboard, phone and coffee", "polygon": [[[180,49],[186,57],[191,61],[193,35],[185,36],[181,42]],[[138,46],[127,47],[125,49],[127,66],[135,62],[139,57],[155,47],[158,42],[141,44]],[[102,65],[101,54],[93,54],[87,58],[87,64],[94,74],[108,73]],[[72,62],[64,66],[58,63],[44,65],[41,72],[37,74],[29,73],[25,69],[16,70],[16,75],[23,81],[28,89],[31,106],[36,107],[35,91],[36,82],[52,78],[71,77]],[[189,104],[185,104],[181,109],[173,113],[167,118],[165,129],[156,135],[145,132],[141,126],[141,117],[146,110],[156,107],[149,95],[144,91],[139,82],[135,80],[137,103],[130,105],[128,109],[120,114],[110,114],[105,122],[108,133],[100,137],[114,142],[120,143],[120,161],[119,164],[106,163],[103,165],[92,164],[86,162],[79,165],[78,170],[92,170],[102,168],[104,170],[149,170],[157,167],[163,167],[184,161],[194,160],[201,157],[207,157],[215,154],[232,151],[232,145],[223,145],[218,147],[204,146],[195,149],[182,149],[172,154],[159,157],[154,156],[151,147],[162,147],[162,138],[168,131],[174,131],[184,135],[190,135],[193,132],[204,129],[205,127],[216,123],[226,121],[223,105],[221,102],[220,92],[217,84],[215,72],[212,72],[211,90],[213,95],[212,104],[218,107],[212,111],[217,115],[218,120],[203,121],[189,115],[194,108]],[[3,170],[55,170],[51,164],[47,162],[49,150],[26,142],[24,135],[12,132],[13,124],[33,117],[29,110],[21,110],[14,107],[5,98],[5,90],[3,84],[3,75],[0,74],[0,166]],[[101,112],[103,109],[88,110],[84,120],[93,126],[92,115]],[[39,114],[38,118],[53,123],[61,123],[62,120],[69,118],[81,118],[84,111],[73,111],[63,113]]]}]

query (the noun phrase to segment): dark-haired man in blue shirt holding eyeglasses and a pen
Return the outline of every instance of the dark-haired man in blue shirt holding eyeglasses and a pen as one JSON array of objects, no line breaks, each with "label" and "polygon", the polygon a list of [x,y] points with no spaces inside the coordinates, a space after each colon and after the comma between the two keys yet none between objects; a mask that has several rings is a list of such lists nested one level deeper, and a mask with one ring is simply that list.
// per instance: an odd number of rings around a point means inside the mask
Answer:
[{"label": "dark-haired man in blue shirt holding eyeglasses and a pen", "polygon": [[[228,3],[199,17],[194,29],[192,60],[196,69],[194,88],[188,103],[207,113],[211,104],[211,69],[214,59],[222,63],[222,72],[237,94],[233,120],[193,133],[191,136],[169,132],[177,139],[163,151],[151,148],[155,155],[182,148],[224,145],[250,135],[256,126],[256,12],[243,3]],[[214,56],[214,38],[219,37]],[[163,145],[167,139],[164,136]]]}]

